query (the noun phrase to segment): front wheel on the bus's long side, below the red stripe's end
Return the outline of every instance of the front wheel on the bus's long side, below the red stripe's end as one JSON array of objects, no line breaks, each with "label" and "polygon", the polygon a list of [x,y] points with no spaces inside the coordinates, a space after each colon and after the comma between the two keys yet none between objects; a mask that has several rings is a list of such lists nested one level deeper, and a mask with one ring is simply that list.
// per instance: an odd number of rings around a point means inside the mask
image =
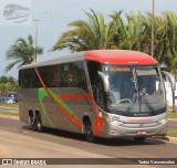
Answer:
[{"label": "front wheel on the bus's long side, below the red stripe's end", "polygon": [[86,136],[87,141],[94,143],[95,137],[93,136],[93,127],[92,127],[91,120],[87,119],[84,126],[85,126],[85,136]]}]

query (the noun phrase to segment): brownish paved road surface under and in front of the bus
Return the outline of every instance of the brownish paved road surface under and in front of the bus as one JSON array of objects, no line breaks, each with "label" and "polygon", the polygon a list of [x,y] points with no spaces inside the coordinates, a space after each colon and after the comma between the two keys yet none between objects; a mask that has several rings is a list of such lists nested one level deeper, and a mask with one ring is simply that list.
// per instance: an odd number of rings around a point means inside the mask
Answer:
[{"label": "brownish paved road surface under and in front of the bus", "polygon": [[[115,158],[175,158],[177,156],[177,144],[165,143],[162,140],[147,139],[142,144],[133,139],[98,139],[96,144],[85,141],[84,136],[61,132],[56,129],[46,129],[46,133],[32,132],[29,125],[19,120],[0,118],[0,129],[19,135],[33,137],[38,140],[54,143],[74,147],[94,155],[104,155]],[[40,157],[40,156],[39,156]],[[50,156],[49,156],[50,157]]]}]

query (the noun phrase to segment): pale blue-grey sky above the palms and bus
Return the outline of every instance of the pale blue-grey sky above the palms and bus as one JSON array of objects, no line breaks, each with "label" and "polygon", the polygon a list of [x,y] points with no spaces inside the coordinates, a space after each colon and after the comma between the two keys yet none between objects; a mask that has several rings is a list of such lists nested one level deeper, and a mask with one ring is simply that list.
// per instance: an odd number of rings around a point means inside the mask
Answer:
[{"label": "pale blue-grey sky above the palms and bus", "polygon": [[[34,19],[39,19],[38,44],[43,48],[43,54],[38,56],[38,62],[46,61],[70,53],[69,50],[49,52],[63,32],[70,29],[67,24],[74,20],[86,20],[84,11],[93,9],[104,14],[108,22],[108,14],[123,10],[145,13],[152,11],[153,0],[6,0],[30,7],[29,21],[25,23],[7,24],[3,17],[4,7],[0,0],[0,76],[11,75],[18,78],[18,66],[4,73],[9,62],[4,55],[17,39],[27,39],[29,34],[35,36]],[[170,10],[177,13],[176,0],[155,0],[155,14]],[[31,20],[31,21],[30,21]]]}]

